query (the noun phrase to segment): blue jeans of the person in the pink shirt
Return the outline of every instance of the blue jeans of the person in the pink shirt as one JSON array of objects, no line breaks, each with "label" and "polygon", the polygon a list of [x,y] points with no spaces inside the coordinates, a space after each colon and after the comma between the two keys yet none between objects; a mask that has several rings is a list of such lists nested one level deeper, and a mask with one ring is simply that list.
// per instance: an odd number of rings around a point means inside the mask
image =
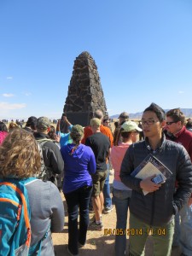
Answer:
[{"label": "blue jeans of the person in the pink shirt", "polygon": [[122,229],[124,234],[115,236],[115,255],[123,256],[125,255],[126,249],[126,222],[128,207],[131,199],[131,190],[119,190],[113,189],[113,202],[116,208],[117,223],[116,230]]}]

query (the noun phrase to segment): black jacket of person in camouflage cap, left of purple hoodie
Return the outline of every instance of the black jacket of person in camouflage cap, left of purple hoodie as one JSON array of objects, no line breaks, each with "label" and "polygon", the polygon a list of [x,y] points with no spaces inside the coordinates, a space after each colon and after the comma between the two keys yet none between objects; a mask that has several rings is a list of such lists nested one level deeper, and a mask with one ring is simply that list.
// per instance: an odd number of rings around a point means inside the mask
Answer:
[{"label": "black jacket of person in camouflage cap, left of purple hoodie", "polygon": [[[44,133],[34,132],[33,135],[37,141],[44,138],[49,139],[49,137]],[[57,145],[55,145],[55,143],[53,143],[52,141],[44,143],[43,156],[44,165],[49,167],[49,169],[51,169],[53,173],[60,174],[61,172],[63,172],[64,162],[61,157],[60,149]]]}]

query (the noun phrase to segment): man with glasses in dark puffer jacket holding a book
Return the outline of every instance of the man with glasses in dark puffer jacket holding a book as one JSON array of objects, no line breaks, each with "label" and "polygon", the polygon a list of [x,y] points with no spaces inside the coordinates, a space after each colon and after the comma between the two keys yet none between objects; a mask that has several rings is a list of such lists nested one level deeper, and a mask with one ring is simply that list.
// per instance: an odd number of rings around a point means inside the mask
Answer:
[{"label": "man with glasses in dark puffer jacket holding a book", "polygon": [[[143,112],[142,126],[145,140],[128,148],[122,161],[120,178],[132,189],[130,203],[130,255],[144,254],[148,235],[154,237],[154,255],[171,255],[174,233],[174,215],[188,201],[192,190],[192,165],[183,146],[166,140],[162,133],[165,112],[152,103]],[[155,183],[150,168],[144,177],[131,176],[143,160],[151,154],[167,169],[162,173],[163,183]],[[151,161],[154,164],[155,161]],[[147,166],[147,165],[146,165]],[[145,167],[145,166],[143,166]],[[157,167],[157,166],[156,166]],[[143,168],[141,169],[142,172]],[[149,177],[148,177],[149,175]],[[179,187],[175,193],[175,181]],[[143,193],[144,191],[144,193]]]}]

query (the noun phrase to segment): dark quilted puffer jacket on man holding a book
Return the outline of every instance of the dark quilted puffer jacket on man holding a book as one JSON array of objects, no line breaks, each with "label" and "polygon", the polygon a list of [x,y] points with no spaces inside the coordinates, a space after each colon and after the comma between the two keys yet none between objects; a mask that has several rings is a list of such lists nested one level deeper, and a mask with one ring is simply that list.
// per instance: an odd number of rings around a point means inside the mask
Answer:
[{"label": "dark quilted puffer jacket on man holding a book", "polygon": [[[154,154],[171,172],[172,177],[166,179],[159,190],[143,195],[140,188],[141,179],[131,177],[131,172],[148,154]],[[166,140],[163,136],[160,148],[155,152],[148,144],[148,139],[132,144],[122,161],[120,178],[132,190],[130,211],[136,218],[151,226],[169,223],[188,201],[192,190],[192,165],[189,154],[183,146]],[[175,192],[175,182],[178,189]]]}]

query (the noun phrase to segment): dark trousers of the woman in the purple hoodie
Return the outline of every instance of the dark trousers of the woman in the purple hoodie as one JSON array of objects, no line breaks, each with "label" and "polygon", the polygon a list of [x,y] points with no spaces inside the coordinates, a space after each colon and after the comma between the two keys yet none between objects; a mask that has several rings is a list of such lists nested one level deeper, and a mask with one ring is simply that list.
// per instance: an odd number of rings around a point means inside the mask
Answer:
[{"label": "dark trousers of the woman in the purple hoodie", "polygon": [[[78,254],[78,242],[84,245],[89,225],[89,201],[92,187],[84,186],[71,193],[64,194],[68,212],[68,248],[71,253]],[[80,215],[80,216],[79,216]],[[78,230],[78,217],[79,230]]]}]

